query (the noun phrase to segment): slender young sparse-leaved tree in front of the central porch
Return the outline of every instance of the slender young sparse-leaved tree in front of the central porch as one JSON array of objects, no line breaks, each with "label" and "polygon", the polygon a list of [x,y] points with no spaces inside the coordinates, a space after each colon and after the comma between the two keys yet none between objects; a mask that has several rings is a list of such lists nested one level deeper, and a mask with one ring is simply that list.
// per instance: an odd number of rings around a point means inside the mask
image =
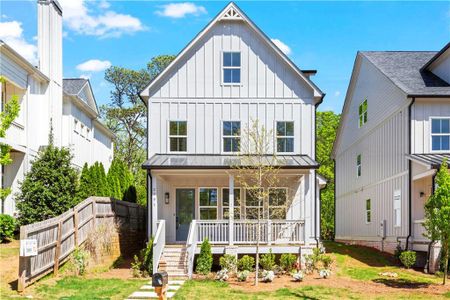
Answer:
[{"label": "slender young sparse-leaved tree in front of the central porch", "polygon": [[[246,208],[246,219],[256,220],[257,224],[255,285],[258,285],[261,220],[283,218],[278,216],[278,214],[282,214],[282,209],[272,211],[270,216],[269,212],[263,209],[267,206],[267,202],[279,200],[277,199],[279,195],[274,195],[270,188],[279,186],[280,161],[275,154],[270,154],[275,153],[272,131],[260,126],[258,121],[252,121],[249,128],[243,130],[242,137],[240,152],[231,174],[235,177],[236,183],[247,193],[246,206],[251,208]],[[289,204],[280,203],[278,208],[282,208],[283,205],[288,206]],[[230,213],[232,212],[230,211]]]}]

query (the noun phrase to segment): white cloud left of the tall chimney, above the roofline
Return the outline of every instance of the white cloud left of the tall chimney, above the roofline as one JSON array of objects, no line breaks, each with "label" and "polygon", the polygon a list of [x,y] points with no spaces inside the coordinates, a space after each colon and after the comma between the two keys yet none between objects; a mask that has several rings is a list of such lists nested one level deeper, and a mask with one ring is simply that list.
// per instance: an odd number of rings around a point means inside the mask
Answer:
[{"label": "white cloud left of the tall chimney, above the roofline", "polygon": [[22,55],[26,60],[34,65],[37,64],[37,46],[35,44],[30,44],[25,40],[21,22],[0,22],[0,39]]}]

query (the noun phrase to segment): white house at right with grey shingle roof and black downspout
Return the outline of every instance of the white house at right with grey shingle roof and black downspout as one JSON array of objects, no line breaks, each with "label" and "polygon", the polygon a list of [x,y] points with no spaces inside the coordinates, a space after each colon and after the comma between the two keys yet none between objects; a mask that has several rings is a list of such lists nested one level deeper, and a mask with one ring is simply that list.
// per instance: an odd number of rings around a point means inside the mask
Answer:
[{"label": "white house at right with grey shingle roof and black downspout", "polygon": [[391,253],[399,244],[434,271],[439,246],[429,251],[423,236],[424,204],[449,139],[450,44],[358,52],[333,149],[336,240]]}]

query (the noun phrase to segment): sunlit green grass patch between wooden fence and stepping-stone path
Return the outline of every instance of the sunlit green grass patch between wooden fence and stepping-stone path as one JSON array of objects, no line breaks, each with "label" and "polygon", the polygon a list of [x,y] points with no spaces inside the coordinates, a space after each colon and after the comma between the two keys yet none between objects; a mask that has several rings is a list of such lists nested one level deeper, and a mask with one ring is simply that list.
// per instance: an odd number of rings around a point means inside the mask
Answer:
[{"label": "sunlit green grass patch between wooden fence and stepping-stone path", "polygon": [[146,281],[122,279],[87,279],[65,277],[55,285],[44,284],[37,288],[42,299],[125,299]]}]

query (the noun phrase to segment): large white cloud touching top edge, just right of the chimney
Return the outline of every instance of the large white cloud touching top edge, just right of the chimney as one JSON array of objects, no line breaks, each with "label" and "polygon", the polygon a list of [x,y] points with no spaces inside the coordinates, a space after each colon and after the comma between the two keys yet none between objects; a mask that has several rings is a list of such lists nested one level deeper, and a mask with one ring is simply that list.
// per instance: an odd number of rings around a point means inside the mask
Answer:
[{"label": "large white cloud touching top edge, just right of the chimney", "polygon": [[78,34],[120,37],[147,29],[138,18],[109,10],[107,1],[60,0],[60,3],[65,25]]}]

